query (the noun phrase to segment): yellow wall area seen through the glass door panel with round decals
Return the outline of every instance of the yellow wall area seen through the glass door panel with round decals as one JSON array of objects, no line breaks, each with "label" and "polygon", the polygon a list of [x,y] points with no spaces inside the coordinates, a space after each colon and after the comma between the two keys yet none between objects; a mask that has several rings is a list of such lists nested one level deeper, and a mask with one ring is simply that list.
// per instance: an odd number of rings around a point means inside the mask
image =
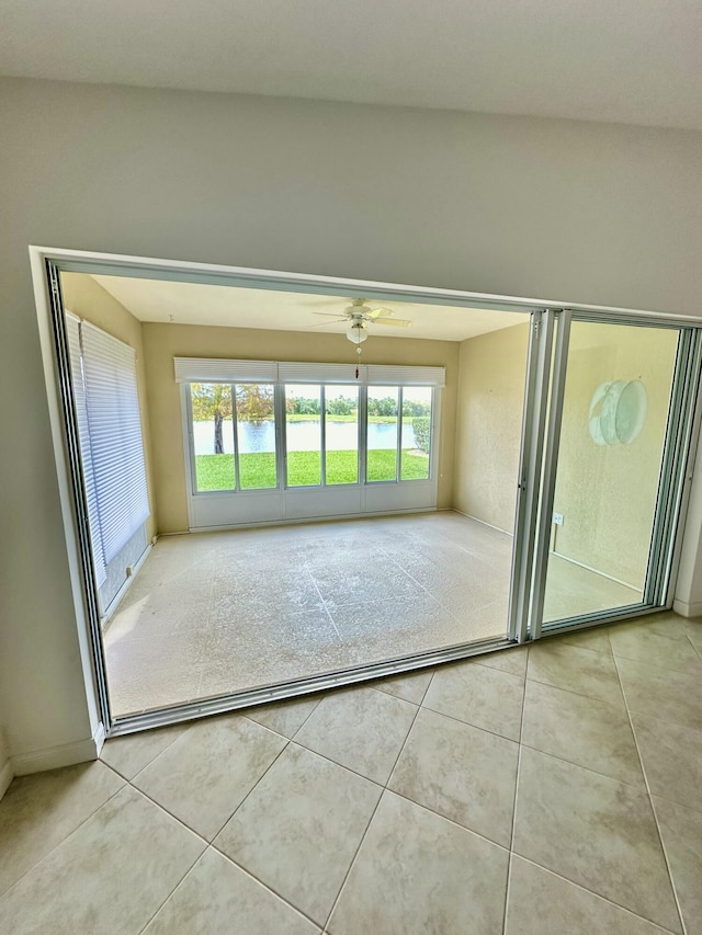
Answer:
[{"label": "yellow wall area seen through the glass door panel with round decals", "polygon": [[[574,322],[568,351],[554,512],[554,548],[566,558],[643,588],[656,506],[677,333]],[[629,445],[596,445],[588,413],[609,380],[641,380],[643,431]]]}]

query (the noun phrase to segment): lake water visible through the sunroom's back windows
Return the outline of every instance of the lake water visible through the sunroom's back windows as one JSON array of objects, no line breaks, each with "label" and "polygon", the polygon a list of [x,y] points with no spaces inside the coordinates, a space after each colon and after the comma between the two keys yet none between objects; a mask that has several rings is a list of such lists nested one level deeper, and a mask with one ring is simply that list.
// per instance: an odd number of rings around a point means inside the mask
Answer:
[{"label": "lake water visible through the sunroom's back windows", "polygon": [[[231,422],[225,422],[223,429],[224,451],[234,453],[234,431]],[[275,451],[275,426],[273,422],[241,422],[239,430],[239,452]],[[286,426],[287,447],[291,452],[314,452],[319,449],[319,422],[291,422]],[[359,429],[353,422],[327,422],[327,451],[354,451],[358,445]],[[214,454],[214,422],[193,422],[193,440],[196,455]],[[392,423],[371,422],[369,424],[369,448],[394,448],[397,426]],[[415,430],[403,425],[403,448],[416,448]]]}]

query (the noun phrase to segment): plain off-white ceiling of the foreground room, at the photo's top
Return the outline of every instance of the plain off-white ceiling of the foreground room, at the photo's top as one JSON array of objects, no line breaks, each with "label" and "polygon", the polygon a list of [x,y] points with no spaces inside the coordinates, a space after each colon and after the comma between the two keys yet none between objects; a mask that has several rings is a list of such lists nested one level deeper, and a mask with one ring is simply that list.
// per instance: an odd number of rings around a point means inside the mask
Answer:
[{"label": "plain off-white ceiling of the foreground room, at the photo's top", "polygon": [[0,73],[702,129],[700,0],[0,0]]}]

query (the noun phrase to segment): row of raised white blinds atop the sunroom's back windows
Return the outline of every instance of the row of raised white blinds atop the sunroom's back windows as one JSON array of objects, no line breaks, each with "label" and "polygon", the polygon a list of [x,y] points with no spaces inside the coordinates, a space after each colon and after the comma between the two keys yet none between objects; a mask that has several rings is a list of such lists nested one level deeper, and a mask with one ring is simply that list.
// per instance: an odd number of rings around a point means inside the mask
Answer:
[{"label": "row of raised white blinds atop the sunroom's back windows", "polygon": [[176,383],[358,383],[370,386],[445,386],[446,383],[444,367],[220,361],[201,357],[174,357],[173,365]]}]

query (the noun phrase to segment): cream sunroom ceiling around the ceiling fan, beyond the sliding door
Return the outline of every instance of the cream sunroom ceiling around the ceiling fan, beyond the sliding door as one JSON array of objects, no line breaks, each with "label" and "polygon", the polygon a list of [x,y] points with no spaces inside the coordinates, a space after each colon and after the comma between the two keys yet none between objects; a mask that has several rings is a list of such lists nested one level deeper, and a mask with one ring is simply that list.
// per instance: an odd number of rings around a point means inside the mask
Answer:
[{"label": "cream sunroom ceiling around the ceiling fan, beyond the sliding door", "polygon": [[[128,309],[139,321],[165,321],[178,324],[218,324],[229,328],[264,328],[282,331],[309,330],[342,334],[347,322],[335,321],[315,312],[343,312],[349,300],[270,289],[242,289],[234,286],[210,286],[199,283],[174,283],[166,280],[137,280],[123,276],[93,276],[100,285]],[[369,333],[384,338],[432,338],[464,341],[487,331],[510,328],[528,320],[521,312],[500,312],[476,308],[383,301],[406,318],[409,328],[376,323]],[[369,301],[374,308],[378,303]]]}]

